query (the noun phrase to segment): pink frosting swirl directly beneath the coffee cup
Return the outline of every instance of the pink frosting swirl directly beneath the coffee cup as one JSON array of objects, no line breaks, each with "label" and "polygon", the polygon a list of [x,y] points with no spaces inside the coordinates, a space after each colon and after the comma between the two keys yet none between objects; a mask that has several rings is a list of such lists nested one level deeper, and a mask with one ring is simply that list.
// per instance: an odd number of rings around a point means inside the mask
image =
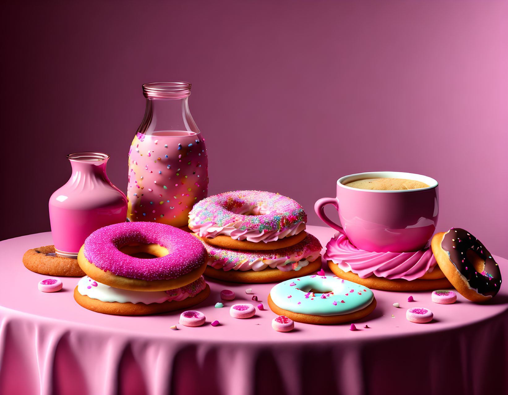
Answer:
[{"label": "pink frosting swirl directly beneath the coffee cup", "polygon": [[369,252],[358,249],[339,232],[326,245],[323,257],[344,272],[351,271],[360,278],[374,274],[389,280],[412,281],[431,272],[437,265],[430,248],[416,252]]}]

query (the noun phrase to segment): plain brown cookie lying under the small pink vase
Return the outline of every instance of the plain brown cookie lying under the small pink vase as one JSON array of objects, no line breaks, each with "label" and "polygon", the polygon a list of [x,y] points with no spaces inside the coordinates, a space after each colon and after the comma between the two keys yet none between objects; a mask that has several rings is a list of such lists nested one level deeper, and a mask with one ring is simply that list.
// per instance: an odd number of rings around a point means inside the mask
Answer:
[{"label": "plain brown cookie lying under the small pink vase", "polygon": [[28,250],[24,253],[22,260],[26,269],[46,276],[83,277],[85,275],[77,259],[56,256],[53,245]]}]

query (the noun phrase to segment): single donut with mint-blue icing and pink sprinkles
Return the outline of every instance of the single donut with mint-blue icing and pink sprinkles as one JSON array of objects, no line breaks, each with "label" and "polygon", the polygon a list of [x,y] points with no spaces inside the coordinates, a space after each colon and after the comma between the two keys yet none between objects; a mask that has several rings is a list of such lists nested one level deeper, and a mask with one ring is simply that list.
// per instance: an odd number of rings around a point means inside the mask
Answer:
[{"label": "single donut with mint-blue icing and pink sprinkles", "polygon": [[283,281],[268,295],[277,315],[296,322],[337,324],[360,319],[376,307],[369,288],[337,276],[312,275]]}]

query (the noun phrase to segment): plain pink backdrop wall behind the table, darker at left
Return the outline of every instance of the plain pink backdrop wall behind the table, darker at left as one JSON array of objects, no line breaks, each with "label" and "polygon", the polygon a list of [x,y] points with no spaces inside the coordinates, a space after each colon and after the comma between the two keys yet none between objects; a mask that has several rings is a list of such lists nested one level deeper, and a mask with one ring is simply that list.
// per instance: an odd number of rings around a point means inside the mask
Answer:
[{"label": "plain pink backdrop wall behind the table, darker at left", "polygon": [[119,4],[3,6],[2,238],[49,230],[68,153],[109,153],[125,190],[141,84],[185,80],[210,193],[278,191],[321,224],[340,176],[425,174],[439,231],[508,256],[508,3]]}]

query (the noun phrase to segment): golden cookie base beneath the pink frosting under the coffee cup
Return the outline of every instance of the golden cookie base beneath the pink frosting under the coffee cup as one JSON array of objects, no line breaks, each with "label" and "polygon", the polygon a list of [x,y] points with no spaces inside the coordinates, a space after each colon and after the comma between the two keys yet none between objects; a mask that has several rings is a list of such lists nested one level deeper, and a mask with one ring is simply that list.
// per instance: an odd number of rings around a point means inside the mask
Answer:
[{"label": "golden cookie base beneath the pink frosting under the coffee cup", "polygon": [[[433,280],[416,279],[412,281],[404,279],[389,280],[375,275],[371,275],[367,278],[360,278],[353,272],[344,272],[331,260],[328,261],[328,267],[337,277],[383,291],[430,291],[437,288],[452,288],[452,284],[450,284],[450,281],[448,281],[446,277]],[[434,271],[435,270],[436,269],[434,269]]]}]

